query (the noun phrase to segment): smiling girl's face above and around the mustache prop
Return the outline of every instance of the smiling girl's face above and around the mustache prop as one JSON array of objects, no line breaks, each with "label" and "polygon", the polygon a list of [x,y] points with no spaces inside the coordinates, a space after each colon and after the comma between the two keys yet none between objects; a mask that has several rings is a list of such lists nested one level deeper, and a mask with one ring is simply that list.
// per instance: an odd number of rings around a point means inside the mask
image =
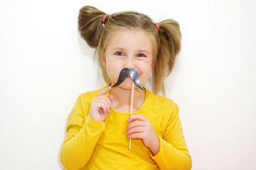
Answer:
[{"label": "smiling girl's face above and around the mustache prop", "polygon": [[[143,84],[151,76],[154,66],[154,42],[151,36],[142,30],[119,30],[110,35],[106,50],[102,55],[102,64],[106,67],[111,85],[117,82],[123,68],[136,69],[139,83]],[[132,79],[119,85],[122,89],[132,89]],[[137,86],[134,86],[137,88]]]}]

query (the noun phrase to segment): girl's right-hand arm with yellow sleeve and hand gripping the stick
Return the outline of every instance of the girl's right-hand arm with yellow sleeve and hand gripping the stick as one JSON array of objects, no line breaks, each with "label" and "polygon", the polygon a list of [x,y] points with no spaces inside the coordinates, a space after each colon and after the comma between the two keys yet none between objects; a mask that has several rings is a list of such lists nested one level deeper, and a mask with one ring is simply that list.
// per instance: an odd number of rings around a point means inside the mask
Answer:
[{"label": "girl's right-hand arm with yellow sleeve and hand gripping the stick", "polygon": [[[192,162],[178,117],[178,106],[171,102],[172,111],[163,137],[156,135],[150,121],[142,115],[131,115],[127,127],[128,138],[140,138],[149,147],[150,156],[159,169],[191,169]],[[138,120],[138,121],[135,121]]]}]

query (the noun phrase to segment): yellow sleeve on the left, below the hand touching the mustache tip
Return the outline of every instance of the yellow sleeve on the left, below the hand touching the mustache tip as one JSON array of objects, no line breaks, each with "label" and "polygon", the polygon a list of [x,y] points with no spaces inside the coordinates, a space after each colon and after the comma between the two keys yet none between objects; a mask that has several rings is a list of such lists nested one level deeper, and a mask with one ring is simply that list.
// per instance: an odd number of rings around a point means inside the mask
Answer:
[{"label": "yellow sleeve on the left, below the hand touching the mustache tip", "polygon": [[67,135],[60,151],[60,159],[66,169],[82,169],[90,160],[93,149],[105,130],[105,123],[88,115],[90,100],[79,96],[71,111]]}]

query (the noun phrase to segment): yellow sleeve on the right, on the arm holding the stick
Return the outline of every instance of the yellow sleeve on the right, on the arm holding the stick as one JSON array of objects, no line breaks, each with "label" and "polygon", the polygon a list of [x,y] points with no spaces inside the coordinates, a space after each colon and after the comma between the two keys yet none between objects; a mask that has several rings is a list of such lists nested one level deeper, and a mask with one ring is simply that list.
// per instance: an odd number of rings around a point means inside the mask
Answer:
[{"label": "yellow sleeve on the right, on the arm holding the stick", "polygon": [[188,170],[191,169],[192,161],[183,136],[181,120],[178,116],[178,106],[175,103],[171,104],[171,112],[164,137],[159,137],[159,153],[154,157],[151,155],[151,158],[162,170]]}]

